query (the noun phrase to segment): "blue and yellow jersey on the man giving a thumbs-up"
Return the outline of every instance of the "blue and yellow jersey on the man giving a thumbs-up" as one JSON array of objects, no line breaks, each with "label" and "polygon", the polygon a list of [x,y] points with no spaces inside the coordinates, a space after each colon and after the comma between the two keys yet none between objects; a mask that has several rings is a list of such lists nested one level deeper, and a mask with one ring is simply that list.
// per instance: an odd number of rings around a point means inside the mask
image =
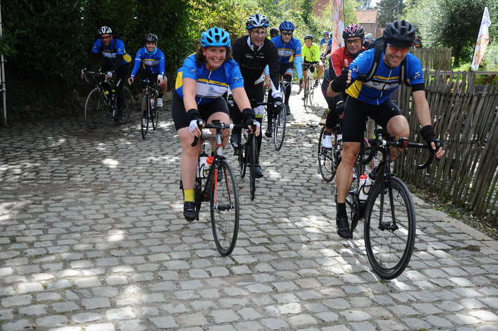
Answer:
[{"label": "blue and yellow jersey on the man giving a thumbs-up", "polygon": [[[349,65],[352,85],[346,90],[346,93],[351,97],[370,103],[371,105],[380,105],[386,101],[390,94],[399,86],[399,68],[390,69],[384,61],[380,61],[379,68],[375,72],[370,81],[359,81],[357,78],[361,75],[368,74],[370,67],[374,61],[374,51],[372,48],[359,54]],[[384,52],[381,54],[381,59],[384,59]],[[413,54],[406,54],[406,77],[410,81],[410,85],[424,83],[424,72],[422,65]]]}]

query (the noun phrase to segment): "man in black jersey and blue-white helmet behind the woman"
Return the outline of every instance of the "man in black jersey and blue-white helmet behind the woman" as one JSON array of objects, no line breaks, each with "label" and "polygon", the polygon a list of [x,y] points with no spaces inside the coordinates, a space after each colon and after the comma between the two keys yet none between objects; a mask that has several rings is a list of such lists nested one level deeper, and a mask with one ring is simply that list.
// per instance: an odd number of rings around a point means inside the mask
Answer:
[{"label": "man in black jersey and blue-white helmet behind the woman", "polygon": [[[268,66],[270,70],[269,83],[271,86],[271,96],[275,100],[277,110],[283,108],[282,95],[279,88],[279,54],[277,46],[266,39],[266,29],[269,21],[264,15],[254,14],[246,22],[247,36],[241,37],[232,43],[232,56],[239,63],[240,71],[243,77],[244,89],[249,99],[255,99],[257,102],[263,102],[265,97],[264,90],[264,71]],[[269,106],[271,107],[271,106]],[[256,120],[261,124],[263,121],[264,106],[254,108]],[[232,112],[233,123],[241,121],[240,111],[235,107]],[[240,147],[241,129],[234,128],[230,143],[233,148]],[[259,152],[261,151],[261,135],[257,137],[257,154],[256,154],[256,177],[263,177],[263,170],[259,165]]]}]

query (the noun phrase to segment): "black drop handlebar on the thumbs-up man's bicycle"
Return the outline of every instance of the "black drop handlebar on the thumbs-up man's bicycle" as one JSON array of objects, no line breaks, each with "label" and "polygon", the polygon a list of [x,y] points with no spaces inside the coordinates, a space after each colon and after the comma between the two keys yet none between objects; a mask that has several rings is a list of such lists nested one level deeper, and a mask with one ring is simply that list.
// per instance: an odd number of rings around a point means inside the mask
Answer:
[{"label": "black drop handlebar on the thumbs-up man's bicycle", "polygon": [[[426,148],[429,151],[429,155],[426,159],[426,161],[422,164],[417,165],[417,168],[419,169],[424,169],[427,168],[431,163],[432,160],[434,159],[434,154],[435,150],[432,149],[432,147],[426,143],[412,143],[408,141],[408,138],[400,138],[399,140],[395,140],[394,136],[389,136],[388,138],[384,139],[382,137],[382,134],[378,134],[377,138],[375,139],[369,139],[368,143],[370,143],[370,146],[372,147],[372,152],[370,152],[370,155],[368,155],[367,159],[365,160],[367,163],[372,161],[372,158],[374,157],[375,154],[377,154],[377,151],[379,149],[383,149],[385,152],[383,152],[384,157],[388,157],[388,152],[386,151],[390,147],[395,147],[395,148]],[[436,148],[442,147],[443,144],[438,140],[436,141]],[[437,159],[437,164],[439,165],[439,159]]]}]

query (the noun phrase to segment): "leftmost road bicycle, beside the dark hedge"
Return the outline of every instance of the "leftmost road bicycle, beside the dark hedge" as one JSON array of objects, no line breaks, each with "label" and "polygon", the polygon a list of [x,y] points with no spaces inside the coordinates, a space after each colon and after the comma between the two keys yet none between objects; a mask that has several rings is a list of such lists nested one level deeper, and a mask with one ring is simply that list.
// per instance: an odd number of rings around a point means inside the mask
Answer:
[{"label": "leftmost road bicycle, beside the dark hedge", "polygon": [[[85,123],[90,129],[97,128],[102,120],[103,113],[107,110],[111,118],[117,115],[116,91],[110,88],[110,83],[105,81],[106,72],[86,72],[85,79],[88,76],[97,81],[97,85],[90,91],[85,103]],[[132,94],[130,90],[123,87],[124,103],[122,108],[122,117],[119,123],[123,124],[128,121],[132,112]]]}]

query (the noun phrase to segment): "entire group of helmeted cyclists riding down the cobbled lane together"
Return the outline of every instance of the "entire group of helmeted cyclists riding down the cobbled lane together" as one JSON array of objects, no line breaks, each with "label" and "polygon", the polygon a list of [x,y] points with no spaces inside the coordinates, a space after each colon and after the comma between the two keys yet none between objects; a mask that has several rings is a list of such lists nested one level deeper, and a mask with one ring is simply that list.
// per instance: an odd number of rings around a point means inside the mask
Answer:
[{"label": "entire group of helmeted cyclists riding down the cobbled lane together", "polygon": [[[201,135],[202,123],[214,120],[229,123],[232,119],[233,123],[243,123],[248,130],[254,132],[258,145],[256,174],[261,178],[264,174],[259,165],[259,152],[264,107],[253,107],[251,102],[263,102],[265,86],[269,88],[268,103],[274,103],[275,107],[267,109],[268,126],[265,134],[271,137],[274,110],[277,113],[284,104],[288,106],[294,70],[301,86],[303,62],[311,63],[318,68],[315,82],[318,85],[323,70],[323,61],[319,59],[320,47],[323,49],[326,43],[332,44],[329,32],[323,32],[320,46],[313,44],[313,37],[307,34],[304,38],[305,46],[301,48],[301,42],[293,37],[295,25],[292,22],[283,21],[278,29],[268,29],[269,25],[266,16],[254,14],[246,22],[248,34],[233,42],[230,34],[222,28],[210,28],[202,32],[197,51],[186,57],[177,70],[175,90],[172,91],[172,118],[183,150],[180,165],[184,193],[183,216],[188,221],[193,221],[196,217],[194,185],[200,150],[200,143],[192,146],[192,141]],[[270,39],[267,37],[268,32]],[[99,34],[101,38],[95,41],[86,68],[96,54],[102,53],[106,58],[106,66],[101,70],[106,71],[108,77],[116,74],[118,78],[118,116],[119,107],[123,104],[123,81],[128,79],[128,83],[133,83],[140,66],[145,68],[146,77],[159,83],[161,100],[162,94],[166,92],[167,79],[164,73],[164,54],[157,48],[157,36],[146,34],[145,47],[137,52],[132,74],[126,77],[130,72],[132,59],[124,49],[123,41],[113,38],[112,30],[105,26],[99,30]],[[435,143],[438,141],[426,101],[421,63],[417,57],[408,53],[415,34],[415,28],[407,21],[388,23],[380,38],[381,60],[377,63],[372,78],[368,79],[365,78],[366,74],[376,60],[375,48],[366,50],[363,47],[365,31],[361,26],[347,26],[342,34],[346,46],[330,52],[331,66],[323,73],[322,84],[322,92],[330,111],[326,119],[326,134],[323,135],[321,144],[324,148],[333,148],[332,130],[342,120],[343,152],[336,175],[336,224],[340,237],[350,237],[346,195],[352,182],[352,169],[363,139],[367,117],[374,119],[397,139],[410,134],[406,117],[390,99],[390,94],[401,83],[400,68],[406,70],[407,81],[412,88],[413,102],[421,124],[420,134],[432,149],[436,149]],[[327,55],[329,50],[326,47],[321,55]],[[400,66],[401,63],[403,66]],[[82,75],[85,72],[86,69],[81,70]],[[285,86],[283,95],[280,82]],[[235,101],[232,109],[228,107],[227,97]],[[157,106],[162,106],[162,100]],[[290,108],[287,109],[290,114]],[[230,137],[232,147],[241,148],[241,130],[235,129],[231,133],[231,137],[230,132],[223,134],[223,146],[226,146]],[[436,156],[441,158],[443,155],[444,148],[441,147],[436,151]]]}]

